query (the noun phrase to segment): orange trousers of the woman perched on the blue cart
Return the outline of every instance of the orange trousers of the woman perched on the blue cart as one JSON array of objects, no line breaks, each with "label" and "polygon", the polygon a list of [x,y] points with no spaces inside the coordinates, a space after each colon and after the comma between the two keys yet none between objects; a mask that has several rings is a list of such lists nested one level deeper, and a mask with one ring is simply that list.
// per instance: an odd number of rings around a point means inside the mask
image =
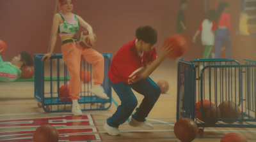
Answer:
[{"label": "orange trousers of the woman perched on the blue cart", "polygon": [[77,41],[61,45],[62,58],[70,74],[70,98],[79,99],[81,90],[81,59],[92,64],[94,85],[101,85],[104,79],[104,57],[93,48],[83,48]]}]

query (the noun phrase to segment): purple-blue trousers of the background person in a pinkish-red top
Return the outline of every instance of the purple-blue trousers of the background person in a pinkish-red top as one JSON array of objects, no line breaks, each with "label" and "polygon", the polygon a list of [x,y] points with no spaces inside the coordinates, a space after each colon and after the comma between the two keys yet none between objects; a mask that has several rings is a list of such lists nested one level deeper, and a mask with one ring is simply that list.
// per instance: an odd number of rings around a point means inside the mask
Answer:
[{"label": "purple-blue trousers of the background person in a pinkish-red top", "polygon": [[231,59],[231,43],[228,29],[217,29],[215,34],[216,58],[220,58],[222,45],[226,48],[227,59]]}]

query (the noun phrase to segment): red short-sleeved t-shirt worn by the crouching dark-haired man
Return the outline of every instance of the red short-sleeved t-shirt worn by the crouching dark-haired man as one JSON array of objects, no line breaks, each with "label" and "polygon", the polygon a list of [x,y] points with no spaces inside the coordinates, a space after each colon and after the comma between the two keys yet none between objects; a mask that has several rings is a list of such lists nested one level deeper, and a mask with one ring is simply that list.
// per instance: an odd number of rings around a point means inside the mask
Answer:
[{"label": "red short-sleeved t-shirt worn by the crouching dark-haired man", "polygon": [[142,57],[138,55],[135,45],[136,39],[126,43],[113,58],[108,71],[108,77],[111,82],[118,83],[134,83],[140,80],[140,76],[136,74],[144,67],[147,67],[150,62],[156,59],[156,48],[150,52],[144,52]]}]

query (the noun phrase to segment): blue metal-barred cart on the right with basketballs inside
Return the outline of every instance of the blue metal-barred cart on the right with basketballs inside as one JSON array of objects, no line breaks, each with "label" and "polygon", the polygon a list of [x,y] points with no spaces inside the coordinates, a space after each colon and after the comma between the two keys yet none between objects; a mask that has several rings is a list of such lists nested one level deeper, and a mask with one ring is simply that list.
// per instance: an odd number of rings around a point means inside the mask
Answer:
[{"label": "blue metal-barred cart on the right with basketballs inside", "polygon": [[[195,120],[200,129],[204,127],[256,127],[256,62],[244,60],[246,64],[239,64],[230,59],[196,59],[179,60],[177,84],[177,120],[188,117]],[[216,114],[206,117],[203,113],[203,100],[209,100]],[[196,110],[196,103],[202,106]],[[218,106],[223,102],[235,103],[239,111],[228,108],[228,114],[223,110],[218,112]],[[216,124],[205,124],[196,118],[196,111],[204,120],[218,121]],[[240,114],[237,118],[230,112]],[[211,112],[210,112],[211,113]],[[218,113],[221,113],[218,115]],[[225,115],[225,117],[224,117]],[[215,117],[213,117],[215,116]],[[227,117],[228,116],[228,117]],[[224,123],[234,122],[234,123]]]}]

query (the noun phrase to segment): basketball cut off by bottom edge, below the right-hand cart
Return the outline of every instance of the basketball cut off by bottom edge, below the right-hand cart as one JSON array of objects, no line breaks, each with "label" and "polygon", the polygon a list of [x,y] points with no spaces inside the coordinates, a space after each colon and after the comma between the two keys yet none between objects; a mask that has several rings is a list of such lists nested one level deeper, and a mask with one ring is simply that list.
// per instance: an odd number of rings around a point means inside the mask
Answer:
[{"label": "basketball cut off by bottom edge, below the right-hand cart", "polygon": [[220,142],[247,142],[247,140],[241,134],[230,132],[228,134],[225,134]]}]

